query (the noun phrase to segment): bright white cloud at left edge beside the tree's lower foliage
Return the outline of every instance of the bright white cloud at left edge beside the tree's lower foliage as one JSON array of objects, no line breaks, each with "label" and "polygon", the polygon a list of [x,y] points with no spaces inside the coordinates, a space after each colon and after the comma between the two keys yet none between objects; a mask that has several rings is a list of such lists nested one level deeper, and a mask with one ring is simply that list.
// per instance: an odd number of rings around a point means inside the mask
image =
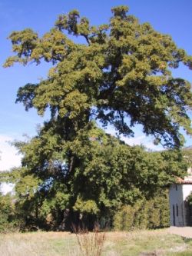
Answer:
[{"label": "bright white cloud at left edge beside the tree's lower foliage", "polygon": [[7,171],[13,167],[21,165],[21,155],[8,141],[13,141],[14,138],[8,135],[0,134],[0,171]]}]

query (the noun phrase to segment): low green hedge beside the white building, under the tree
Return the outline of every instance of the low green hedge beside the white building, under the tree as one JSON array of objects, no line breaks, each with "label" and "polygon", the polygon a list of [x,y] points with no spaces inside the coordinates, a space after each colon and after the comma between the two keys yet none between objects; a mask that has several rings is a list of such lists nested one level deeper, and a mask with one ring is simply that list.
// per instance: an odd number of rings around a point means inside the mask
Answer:
[{"label": "low green hedge beside the white building, under the tree", "polygon": [[150,200],[143,199],[126,205],[114,215],[114,229],[131,231],[137,228],[165,228],[170,224],[167,191],[161,191]]}]

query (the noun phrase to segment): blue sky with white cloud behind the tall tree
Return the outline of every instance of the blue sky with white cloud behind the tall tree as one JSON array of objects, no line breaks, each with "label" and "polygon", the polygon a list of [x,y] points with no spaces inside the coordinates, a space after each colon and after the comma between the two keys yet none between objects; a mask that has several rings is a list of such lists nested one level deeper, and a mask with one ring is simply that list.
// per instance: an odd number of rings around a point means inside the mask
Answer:
[{"label": "blue sky with white cloud behind the tall tree", "polygon": [[[59,14],[74,8],[87,16],[92,25],[99,25],[108,22],[111,8],[116,5],[128,5],[131,15],[141,22],[150,22],[157,31],[171,35],[178,47],[192,55],[191,0],[0,0],[0,170],[19,165],[20,162],[20,157],[15,156],[15,149],[10,148],[6,141],[21,139],[23,134],[35,135],[36,125],[43,121],[35,110],[26,112],[21,104],[15,105],[17,90],[28,82],[44,78],[48,73],[46,64],[2,68],[5,59],[12,54],[12,45],[6,39],[8,35],[23,28],[32,28],[42,35],[54,25]],[[192,71],[187,68],[180,67],[174,71],[174,75],[192,82]],[[186,145],[192,145],[192,139],[186,139]],[[127,143],[143,143],[148,148],[154,148],[152,139],[145,138],[140,128],[136,129],[135,138],[127,139]]]}]

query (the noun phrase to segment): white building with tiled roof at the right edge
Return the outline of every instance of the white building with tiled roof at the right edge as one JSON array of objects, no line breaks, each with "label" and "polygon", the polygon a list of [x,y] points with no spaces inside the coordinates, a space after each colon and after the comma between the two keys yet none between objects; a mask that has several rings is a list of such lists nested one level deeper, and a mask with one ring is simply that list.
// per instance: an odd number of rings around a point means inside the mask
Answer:
[{"label": "white building with tiled roof at the right edge", "polygon": [[187,172],[187,177],[177,178],[177,183],[170,186],[170,226],[192,226],[192,206],[186,200],[192,192],[192,168]]}]

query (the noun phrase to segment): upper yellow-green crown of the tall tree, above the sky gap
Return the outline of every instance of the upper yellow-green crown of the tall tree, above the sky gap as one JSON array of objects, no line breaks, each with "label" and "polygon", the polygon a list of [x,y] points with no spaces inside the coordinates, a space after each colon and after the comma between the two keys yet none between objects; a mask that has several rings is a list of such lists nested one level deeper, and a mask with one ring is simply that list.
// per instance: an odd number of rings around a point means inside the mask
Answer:
[{"label": "upper yellow-green crown of the tall tree, above the sky gap", "polygon": [[[27,28],[12,32],[15,62],[52,62],[48,78],[18,90],[17,102],[36,108],[43,115],[50,108],[52,120],[65,123],[71,135],[95,119],[114,125],[124,135],[143,125],[157,143],[179,147],[180,127],[191,134],[192,97],[190,83],[173,78],[171,68],[180,63],[192,68],[192,58],[169,35],[156,32],[127,15],[126,6],[112,8],[109,24],[92,26],[74,10],[60,15],[55,26],[42,37]],[[75,43],[65,34],[82,36]]]}]

